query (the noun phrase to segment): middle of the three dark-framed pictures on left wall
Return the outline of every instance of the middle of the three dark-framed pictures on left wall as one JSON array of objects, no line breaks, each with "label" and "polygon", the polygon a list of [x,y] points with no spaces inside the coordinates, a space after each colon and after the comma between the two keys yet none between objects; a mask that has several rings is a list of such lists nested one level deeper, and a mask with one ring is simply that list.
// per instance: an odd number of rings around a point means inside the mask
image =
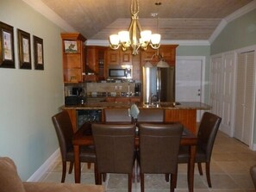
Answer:
[{"label": "middle of the three dark-framed pictures on left wall", "polygon": [[31,48],[30,34],[21,29],[17,29],[19,60],[21,69],[31,69]]}]

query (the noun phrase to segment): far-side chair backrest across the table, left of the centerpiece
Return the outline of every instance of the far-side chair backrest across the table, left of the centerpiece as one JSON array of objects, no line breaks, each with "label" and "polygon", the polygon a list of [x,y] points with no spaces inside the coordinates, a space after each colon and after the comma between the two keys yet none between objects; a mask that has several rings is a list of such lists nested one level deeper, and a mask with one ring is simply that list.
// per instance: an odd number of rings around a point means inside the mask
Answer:
[{"label": "far-side chair backrest across the table, left of the centerpiece", "polygon": [[104,120],[106,122],[132,122],[128,108],[105,108]]}]

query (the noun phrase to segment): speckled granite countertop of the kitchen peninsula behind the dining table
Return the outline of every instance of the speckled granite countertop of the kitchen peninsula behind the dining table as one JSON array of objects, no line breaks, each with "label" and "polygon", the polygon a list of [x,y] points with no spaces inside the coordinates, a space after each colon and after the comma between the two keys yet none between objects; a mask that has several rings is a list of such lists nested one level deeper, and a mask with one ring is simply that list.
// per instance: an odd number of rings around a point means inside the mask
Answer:
[{"label": "speckled granite countertop of the kitchen peninsula behind the dining table", "polygon": [[[63,106],[63,109],[103,109],[103,108],[130,108],[134,102],[85,102],[80,105]],[[159,104],[143,104],[136,102],[138,108],[165,108],[165,109],[197,109],[209,110],[211,107],[202,102],[160,102]]]}]

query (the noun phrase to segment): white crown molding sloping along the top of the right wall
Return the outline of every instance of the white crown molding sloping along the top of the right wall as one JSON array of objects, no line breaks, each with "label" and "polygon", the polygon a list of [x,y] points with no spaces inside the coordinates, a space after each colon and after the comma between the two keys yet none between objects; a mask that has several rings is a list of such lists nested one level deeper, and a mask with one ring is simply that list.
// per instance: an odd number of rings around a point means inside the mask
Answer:
[{"label": "white crown molding sloping along the top of the right wall", "polygon": [[209,43],[212,44],[217,36],[222,33],[222,30],[228,25],[228,22],[232,22],[235,19],[239,18],[242,15],[247,14],[248,12],[252,11],[253,9],[256,9],[256,0],[253,0],[253,2],[248,3],[247,5],[243,6],[242,8],[234,11],[234,13],[226,16],[224,19],[222,19],[222,22],[215,28],[215,31],[210,35],[209,37]]}]

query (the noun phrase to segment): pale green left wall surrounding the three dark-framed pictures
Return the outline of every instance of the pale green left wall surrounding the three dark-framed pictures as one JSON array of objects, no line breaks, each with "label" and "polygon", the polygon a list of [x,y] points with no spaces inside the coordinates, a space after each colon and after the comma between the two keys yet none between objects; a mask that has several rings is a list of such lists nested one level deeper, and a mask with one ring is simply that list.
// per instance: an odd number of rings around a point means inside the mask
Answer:
[{"label": "pale green left wall surrounding the three dark-framed pictures", "polygon": [[[59,148],[51,117],[64,103],[63,30],[21,0],[1,0],[0,21],[14,27],[16,63],[0,68],[0,156],[12,158],[26,181]],[[19,68],[17,28],[30,34],[32,70]],[[33,35],[43,39],[43,71],[34,70]]]}]

